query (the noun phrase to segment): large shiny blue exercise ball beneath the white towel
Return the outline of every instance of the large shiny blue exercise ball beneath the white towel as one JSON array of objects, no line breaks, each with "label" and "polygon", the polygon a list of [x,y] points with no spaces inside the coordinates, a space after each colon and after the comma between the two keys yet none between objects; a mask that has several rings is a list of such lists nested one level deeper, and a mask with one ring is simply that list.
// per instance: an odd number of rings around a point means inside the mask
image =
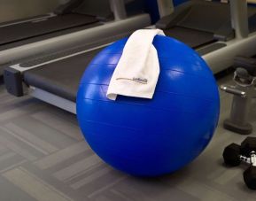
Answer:
[{"label": "large shiny blue exercise ball beneath the white towel", "polygon": [[172,173],[198,157],[213,136],[220,112],[216,81],[195,50],[157,35],[160,73],[153,98],[109,100],[108,85],[127,40],[98,53],[83,74],[77,95],[81,131],[92,150],[120,171]]}]

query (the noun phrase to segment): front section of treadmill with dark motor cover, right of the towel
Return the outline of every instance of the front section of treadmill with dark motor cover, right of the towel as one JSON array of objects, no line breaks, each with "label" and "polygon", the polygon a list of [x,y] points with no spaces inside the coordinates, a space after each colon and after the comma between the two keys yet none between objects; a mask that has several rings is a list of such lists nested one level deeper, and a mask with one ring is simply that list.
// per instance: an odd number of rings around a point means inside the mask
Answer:
[{"label": "front section of treadmill with dark motor cover, right of the towel", "polygon": [[237,55],[252,57],[255,52],[256,7],[244,0],[189,1],[156,27],[197,50],[213,73],[232,66]]}]

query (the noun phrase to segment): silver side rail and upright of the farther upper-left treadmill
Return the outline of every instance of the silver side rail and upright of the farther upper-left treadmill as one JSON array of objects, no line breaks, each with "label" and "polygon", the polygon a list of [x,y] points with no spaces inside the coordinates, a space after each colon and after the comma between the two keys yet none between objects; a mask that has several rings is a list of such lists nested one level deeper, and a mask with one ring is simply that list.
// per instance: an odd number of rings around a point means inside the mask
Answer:
[{"label": "silver side rail and upright of the farther upper-left treadmill", "polygon": [[[66,49],[70,45],[79,43],[91,43],[98,38],[124,33],[129,30],[147,27],[151,24],[149,14],[140,14],[134,17],[127,17],[124,0],[109,0],[114,19],[109,22],[103,22],[97,27],[90,27],[71,34],[60,35],[43,41],[28,43],[9,50],[0,51],[0,65],[27,58],[31,55],[39,55],[45,51],[54,51]],[[139,26],[138,26],[139,25]]]}]

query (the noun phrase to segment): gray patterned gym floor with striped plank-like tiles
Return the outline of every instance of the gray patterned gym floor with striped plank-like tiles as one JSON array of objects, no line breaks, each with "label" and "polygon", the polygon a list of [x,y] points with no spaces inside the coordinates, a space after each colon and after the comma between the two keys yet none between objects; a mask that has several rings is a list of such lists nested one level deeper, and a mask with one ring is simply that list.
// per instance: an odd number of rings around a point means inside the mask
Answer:
[{"label": "gray patterned gym floor with striped plank-like tiles", "polygon": [[[222,165],[223,148],[244,139],[221,126],[230,104],[231,97],[221,92],[220,126],[200,157],[175,174],[140,179],[113,170],[97,158],[83,141],[73,114],[34,98],[12,97],[2,85],[0,200],[256,200],[256,191],[244,186],[246,166]],[[255,127],[253,108],[254,103]]]}]

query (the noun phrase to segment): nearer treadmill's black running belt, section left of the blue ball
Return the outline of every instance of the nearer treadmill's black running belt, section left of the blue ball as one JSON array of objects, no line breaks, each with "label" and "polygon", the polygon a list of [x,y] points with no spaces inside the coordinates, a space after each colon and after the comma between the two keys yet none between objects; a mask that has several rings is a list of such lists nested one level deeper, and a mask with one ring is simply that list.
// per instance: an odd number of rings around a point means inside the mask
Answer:
[{"label": "nearer treadmill's black running belt, section left of the blue ball", "polygon": [[103,48],[36,67],[24,73],[24,81],[35,88],[75,102],[81,76],[100,50]]}]

